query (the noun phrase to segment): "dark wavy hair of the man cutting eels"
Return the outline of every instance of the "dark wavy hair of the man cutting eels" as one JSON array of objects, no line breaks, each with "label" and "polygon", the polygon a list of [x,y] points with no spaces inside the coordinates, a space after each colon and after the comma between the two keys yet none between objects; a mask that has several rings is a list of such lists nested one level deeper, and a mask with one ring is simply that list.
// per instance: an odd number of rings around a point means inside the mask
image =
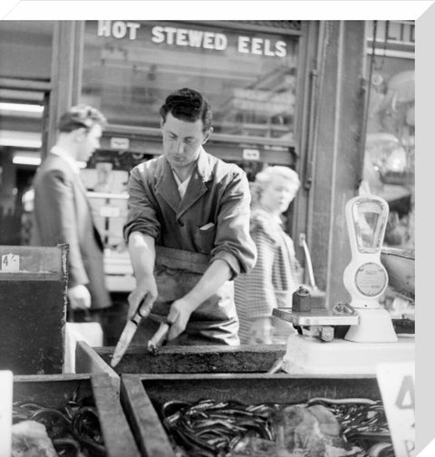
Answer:
[{"label": "dark wavy hair of the man cutting eels", "polygon": [[187,122],[196,122],[198,119],[204,124],[204,131],[211,127],[213,114],[208,100],[199,92],[185,87],[172,92],[160,108],[160,116],[166,122],[168,113]]}]

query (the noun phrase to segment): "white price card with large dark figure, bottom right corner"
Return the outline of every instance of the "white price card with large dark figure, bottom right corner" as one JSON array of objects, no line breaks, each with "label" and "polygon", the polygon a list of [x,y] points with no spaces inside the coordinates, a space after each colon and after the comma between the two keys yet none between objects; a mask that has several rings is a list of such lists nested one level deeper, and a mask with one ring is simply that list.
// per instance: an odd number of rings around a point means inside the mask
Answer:
[{"label": "white price card with large dark figure, bottom right corner", "polygon": [[415,457],[415,364],[379,364],[377,378],[395,456]]}]

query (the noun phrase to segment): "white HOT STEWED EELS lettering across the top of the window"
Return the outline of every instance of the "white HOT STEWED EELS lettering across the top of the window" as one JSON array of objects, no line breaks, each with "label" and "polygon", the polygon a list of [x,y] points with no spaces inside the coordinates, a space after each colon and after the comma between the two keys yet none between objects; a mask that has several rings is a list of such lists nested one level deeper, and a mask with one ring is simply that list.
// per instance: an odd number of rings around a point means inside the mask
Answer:
[{"label": "white HOT STEWED EELS lettering across the top of the window", "polygon": [[[144,26],[145,25],[145,26]],[[210,30],[181,28],[174,26],[154,25],[148,27],[127,21],[98,21],[97,35],[129,40],[150,40],[155,44],[170,46],[225,51],[235,46],[237,53],[266,55],[269,57],[285,57],[287,55],[285,41],[252,36],[249,34],[224,34]]]}]

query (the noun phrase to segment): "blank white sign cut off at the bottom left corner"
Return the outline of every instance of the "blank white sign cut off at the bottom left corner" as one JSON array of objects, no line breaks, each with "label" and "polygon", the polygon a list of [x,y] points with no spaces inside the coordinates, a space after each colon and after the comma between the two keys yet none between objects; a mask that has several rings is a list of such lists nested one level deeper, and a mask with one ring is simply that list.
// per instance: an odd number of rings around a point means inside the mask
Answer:
[{"label": "blank white sign cut off at the bottom left corner", "polygon": [[11,371],[0,371],[0,455],[11,455],[12,446],[12,392],[14,376]]}]

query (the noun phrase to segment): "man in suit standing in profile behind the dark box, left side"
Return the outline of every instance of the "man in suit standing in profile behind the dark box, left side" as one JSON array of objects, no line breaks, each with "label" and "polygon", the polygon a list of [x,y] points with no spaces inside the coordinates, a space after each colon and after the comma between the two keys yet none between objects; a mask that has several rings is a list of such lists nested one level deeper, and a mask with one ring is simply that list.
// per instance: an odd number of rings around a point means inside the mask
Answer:
[{"label": "man in suit standing in profile behind the dark box, left side", "polygon": [[93,224],[78,166],[100,147],[105,122],[90,106],[65,112],[56,143],[34,177],[31,244],[69,245],[68,312],[75,321],[101,322],[102,309],[111,306],[104,286],[102,238]]}]

